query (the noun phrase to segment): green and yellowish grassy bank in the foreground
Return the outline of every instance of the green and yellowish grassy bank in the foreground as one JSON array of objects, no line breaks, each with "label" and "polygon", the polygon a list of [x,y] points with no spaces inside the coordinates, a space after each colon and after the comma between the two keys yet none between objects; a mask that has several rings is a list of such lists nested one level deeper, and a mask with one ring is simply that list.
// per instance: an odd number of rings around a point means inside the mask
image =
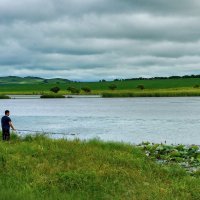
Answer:
[{"label": "green and yellowish grassy bank in the foreground", "polygon": [[1,199],[199,199],[200,176],[139,147],[13,136],[0,142]]}]

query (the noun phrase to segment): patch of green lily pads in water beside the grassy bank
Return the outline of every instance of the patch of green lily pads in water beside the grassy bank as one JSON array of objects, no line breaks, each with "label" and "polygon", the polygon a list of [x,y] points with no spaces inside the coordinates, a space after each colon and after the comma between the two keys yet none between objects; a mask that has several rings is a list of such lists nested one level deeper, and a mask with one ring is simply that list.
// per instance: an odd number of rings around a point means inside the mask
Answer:
[{"label": "patch of green lily pads in water beside the grassy bank", "polygon": [[161,164],[177,163],[186,171],[200,173],[200,147],[197,145],[167,145],[151,144],[139,145],[148,157],[156,159]]}]

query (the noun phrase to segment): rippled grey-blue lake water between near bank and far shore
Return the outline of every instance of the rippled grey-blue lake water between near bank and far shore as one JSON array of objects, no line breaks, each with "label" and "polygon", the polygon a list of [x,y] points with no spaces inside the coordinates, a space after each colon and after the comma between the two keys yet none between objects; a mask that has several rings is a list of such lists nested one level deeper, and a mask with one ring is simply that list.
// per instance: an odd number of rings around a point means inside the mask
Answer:
[{"label": "rippled grey-blue lake water between near bank and far shore", "polygon": [[199,97],[12,99],[0,105],[1,113],[11,110],[18,129],[75,133],[81,139],[200,145]]}]

